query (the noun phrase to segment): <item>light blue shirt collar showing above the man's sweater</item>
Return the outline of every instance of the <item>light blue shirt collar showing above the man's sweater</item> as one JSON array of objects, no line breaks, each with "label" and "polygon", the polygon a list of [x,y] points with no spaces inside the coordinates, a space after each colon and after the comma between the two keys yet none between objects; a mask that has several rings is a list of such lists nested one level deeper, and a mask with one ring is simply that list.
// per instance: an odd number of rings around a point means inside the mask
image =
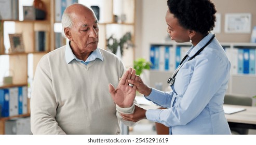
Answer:
[{"label": "light blue shirt collar showing above the man's sweater", "polygon": [[95,51],[93,51],[89,57],[87,58],[86,61],[83,60],[79,60],[77,59],[77,57],[74,55],[74,53],[72,52],[72,49],[70,47],[70,43],[69,45],[65,46],[65,59],[66,59],[66,63],[69,64],[72,60],[76,60],[78,62],[81,62],[85,65],[89,64],[91,61],[94,61],[96,59],[100,59],[101,61],[103,61],[103,56],[99,50],[99,48],[97,48]]}]

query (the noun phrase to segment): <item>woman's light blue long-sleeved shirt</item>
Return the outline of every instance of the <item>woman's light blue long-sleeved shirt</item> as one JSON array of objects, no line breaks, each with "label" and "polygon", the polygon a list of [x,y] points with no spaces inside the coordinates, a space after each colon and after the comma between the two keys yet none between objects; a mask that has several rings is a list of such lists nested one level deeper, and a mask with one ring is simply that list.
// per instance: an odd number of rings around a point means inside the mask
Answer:
[{"label": "woman's light blue long-sleeved shirt", "polygon": [[[192,57],[211,39],[209,33],[187,51]],[[169,127],[170,134],[231,134],[223,111],[230,61],[216,38],[194,59],[183,63],[171,92],[146,98],[167,109],[147,110],[148,120]]]}]

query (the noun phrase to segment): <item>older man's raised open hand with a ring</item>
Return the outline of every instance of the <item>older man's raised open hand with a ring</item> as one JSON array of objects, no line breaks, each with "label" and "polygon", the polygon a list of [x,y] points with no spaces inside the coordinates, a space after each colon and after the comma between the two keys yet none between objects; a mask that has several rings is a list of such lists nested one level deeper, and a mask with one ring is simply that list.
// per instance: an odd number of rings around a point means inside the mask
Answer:
[{"label": "older man's raised open hand with a ring", "polygon": [[[135,79],[136,70],[129,68],[120,79],[117,88],[109,84],[109,92],[114,103],[122,108],[131,107],[136,96],[136,86],[129,85],[128,79]],[[138,78],[137,78],[138,79]]]}]

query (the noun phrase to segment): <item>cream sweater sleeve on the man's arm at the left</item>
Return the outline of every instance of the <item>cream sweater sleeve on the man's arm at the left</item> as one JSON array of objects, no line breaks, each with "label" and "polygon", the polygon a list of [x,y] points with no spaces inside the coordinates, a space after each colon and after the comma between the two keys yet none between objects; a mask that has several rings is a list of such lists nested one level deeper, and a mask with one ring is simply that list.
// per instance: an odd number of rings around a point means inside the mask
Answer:
[{"label": "cream sweater sleeve on the man's arm at the left", "polygon": [[[46,60],[46,59],[45,59]],[[33,134],[66,134],[56,121],[57,102],[52,89],[48,62],[39,62],[31,96],[31,131]]]}]

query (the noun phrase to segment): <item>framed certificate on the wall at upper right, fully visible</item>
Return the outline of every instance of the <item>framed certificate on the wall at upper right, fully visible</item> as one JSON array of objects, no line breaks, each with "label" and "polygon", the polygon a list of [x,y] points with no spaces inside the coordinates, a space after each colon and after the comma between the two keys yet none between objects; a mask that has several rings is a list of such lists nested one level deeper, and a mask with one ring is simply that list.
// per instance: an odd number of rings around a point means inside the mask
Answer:
[{"label": "framed certificate on the wall at upper right, fully visible", "polygon": [[226,13],[225,33],[251,33],[251,13]]}]

